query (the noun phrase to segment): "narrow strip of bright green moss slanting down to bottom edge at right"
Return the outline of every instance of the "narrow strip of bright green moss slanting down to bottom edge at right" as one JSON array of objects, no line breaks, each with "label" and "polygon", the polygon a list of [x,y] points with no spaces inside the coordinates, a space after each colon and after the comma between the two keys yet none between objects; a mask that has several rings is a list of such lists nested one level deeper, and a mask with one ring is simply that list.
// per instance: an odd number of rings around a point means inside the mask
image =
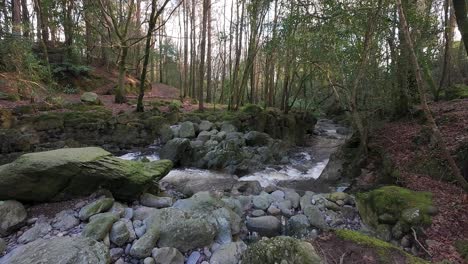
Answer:
[{"label": "narrow strip of bright green moss slanting down to bottom edge at right", "polygon": [[373,248],[377,251],[379,257],[380,257],[380,262],[379,263],[389,263],[389,261],[391,260],[391,258],[389,258],[389,256],[392,254],[392,253],[399,253],[401,254],[402,256],[406,257],[406,263],[409,263],[409,264],[425,264],[425,263],[428,263],[427,261],[423,260],[423,259],[420,259],[420,258],[417,258],[413,255],[410,255],[406,252],[404,252],[403,250],[401,250],[400,248],[390,244],[390,243],[387,243],[385,241],[382,241],[380,239],[377,239],[377,238],[373,238],[373,237],[370,237],[370,236],[366,236],[362,233],[359,233],[359,232],[356,232],[356,231],[351,231],[351,230],[344,230],[344,229],[339,229],[339,230],[335,230],[335,234],[343,239],[343,240],[346,240],[346,241],[351,241],[351,242],[355,242],[356,244],[359,244],[359,245],[362,245],[362,246],[367,246],[367,247],[370,247],[370,248]]}]

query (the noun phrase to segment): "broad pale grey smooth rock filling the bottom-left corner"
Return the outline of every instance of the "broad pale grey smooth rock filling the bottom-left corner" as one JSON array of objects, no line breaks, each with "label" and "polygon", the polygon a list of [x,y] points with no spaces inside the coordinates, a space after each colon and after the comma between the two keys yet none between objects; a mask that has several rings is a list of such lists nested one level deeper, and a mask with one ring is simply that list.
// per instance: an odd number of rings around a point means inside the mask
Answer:
[{"label": "broad pale grey smooth rock filling the bottom-left corner", "polygon": [[38,239],[16,248],[0,259],[0,264],[73,263],[107,264],[109,250],[102,243],[85,237]]}]

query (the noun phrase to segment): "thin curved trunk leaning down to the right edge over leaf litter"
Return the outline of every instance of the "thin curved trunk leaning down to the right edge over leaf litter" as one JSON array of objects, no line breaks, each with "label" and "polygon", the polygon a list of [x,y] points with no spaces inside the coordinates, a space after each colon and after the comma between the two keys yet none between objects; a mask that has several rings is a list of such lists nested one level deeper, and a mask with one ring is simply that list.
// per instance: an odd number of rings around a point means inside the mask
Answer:
[{"label": "thin curved trunk leaning down to the right edge over leaf litter", "polygon": [[432,133],[435,139],[437,140],[439,148],[442,151],[442,155],[444,156],[444,159],[447,160],[448,162],[448,165],[449,165],[450,170],[452,171],[452,174],[457,178],[459,184],[463,187],[463,189],[468,192],[468,182],[465,180],[465,178],[463,178],[463,175],[461,174],[460,169],[457,167],[455,160],[449,153],[447,146],[444,142],[444,139],[442,137],[442,134],[439,130],[439,127],[437,126],[434,120],[434,117],[432,116],[431,110],[429,109],[429,106],[427,104],[426,88],[424,86],[424,80],[423,80],[422,73],[421,73],[421,67],[419,66],[418,58],[416,57],[416,52],[414,50],[414,44],[411,39],[411,34],[409,32],[408,22],[406,20],[406,16],[403,10],[403,6],[401,4],[401,0],[396,0],[396,3],[398,6],[400,20],[403,24],[403,33],[405,34],[405,40],[409,47],[410,59],[411,59],[411,62],[412,62],[412,65],[416,74],[416,82],[418,86],[418,92],[419,92],[419,97],[420,97],[423,111],[426,115],[428,124],[431,127]]}]

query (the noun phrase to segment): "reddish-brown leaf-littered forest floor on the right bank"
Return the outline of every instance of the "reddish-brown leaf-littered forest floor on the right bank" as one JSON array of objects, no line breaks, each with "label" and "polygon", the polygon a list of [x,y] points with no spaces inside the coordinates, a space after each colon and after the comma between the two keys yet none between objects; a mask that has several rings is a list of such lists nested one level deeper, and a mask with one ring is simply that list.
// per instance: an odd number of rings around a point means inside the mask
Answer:
[{"label": "reddish-brown leaf-littered forest floor on the right bank", "polygon": [[[456,156],[459,148],[468,143],[468,100],[433,103],[430,107],[450,152]],[[400,171],[399,180],[404,187],[433,194],[439,213],[425,234],[432,260],[463,263],[454,243],[468,238],[468,201],[462,188],[444,180],[449,177],[442,173],[446,168],[444,161],[438,160],[441,156],[430,139],[417,143],[427,134],[427,128],[421,123],[420,119],[387,123],[375,131],[372,143],[390,156]]]}]

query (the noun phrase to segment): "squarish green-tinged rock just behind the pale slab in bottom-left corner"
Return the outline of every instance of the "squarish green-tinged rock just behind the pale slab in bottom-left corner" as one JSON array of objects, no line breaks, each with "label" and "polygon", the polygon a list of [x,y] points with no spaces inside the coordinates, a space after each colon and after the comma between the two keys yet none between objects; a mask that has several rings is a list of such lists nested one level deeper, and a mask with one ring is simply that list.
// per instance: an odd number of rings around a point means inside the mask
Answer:
[{"label": "squarish green-tinged rock just behind the pale slab in bottom-left corner", "polygon": [[81,233],[84,237],[89,237],[97,241],[103,240],[118,218],[112,213],[97,214],[91,217],[90,222]]}]

